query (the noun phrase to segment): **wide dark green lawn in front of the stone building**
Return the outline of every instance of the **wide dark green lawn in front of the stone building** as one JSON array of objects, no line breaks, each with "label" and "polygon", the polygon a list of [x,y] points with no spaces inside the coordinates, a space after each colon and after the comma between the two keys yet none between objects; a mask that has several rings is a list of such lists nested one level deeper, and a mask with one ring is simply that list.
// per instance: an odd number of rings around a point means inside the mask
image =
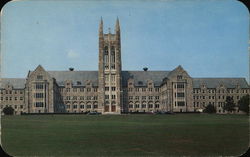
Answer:
[{"label": "wide dark green lawn in front of the stone building", "polygon": [[29,115],[2,117],[13,156],[238,156],[246,115]]}]

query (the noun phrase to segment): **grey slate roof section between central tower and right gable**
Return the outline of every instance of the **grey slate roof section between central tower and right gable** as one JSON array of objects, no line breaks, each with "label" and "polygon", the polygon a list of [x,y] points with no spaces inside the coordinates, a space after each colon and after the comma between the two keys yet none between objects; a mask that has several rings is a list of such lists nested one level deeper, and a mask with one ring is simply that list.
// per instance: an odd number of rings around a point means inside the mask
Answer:
[{"label": "grey slate roof section between central tower and right gable", "polygon": [[152,80],[155,86],[160,86],[162,80],[170,71],[122,71],[122,85],[127,86],[129,78],[134,79],[135,86],[147,86],[147,80]]}]

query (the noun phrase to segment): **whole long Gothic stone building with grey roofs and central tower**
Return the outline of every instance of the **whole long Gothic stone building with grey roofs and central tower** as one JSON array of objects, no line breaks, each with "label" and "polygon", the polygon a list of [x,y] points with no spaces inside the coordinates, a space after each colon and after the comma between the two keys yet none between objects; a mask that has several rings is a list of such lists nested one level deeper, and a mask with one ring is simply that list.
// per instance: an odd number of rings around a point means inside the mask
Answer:
[{"label": "whole long Gothic stone building with grey roofs and central tower", "polygon": [[192,78],[181,66],[170,71],[122,71],[118,19],[114,32],[103,33],[101,20],[98,71],[46,71],[39,65],[27,78],[1,78],[1,109],[12,106],[15,114],[120,114],[194,112],[212,104],[218,113],[225,113],[227,96],[237,103],[250,92],[244,78]]}]

